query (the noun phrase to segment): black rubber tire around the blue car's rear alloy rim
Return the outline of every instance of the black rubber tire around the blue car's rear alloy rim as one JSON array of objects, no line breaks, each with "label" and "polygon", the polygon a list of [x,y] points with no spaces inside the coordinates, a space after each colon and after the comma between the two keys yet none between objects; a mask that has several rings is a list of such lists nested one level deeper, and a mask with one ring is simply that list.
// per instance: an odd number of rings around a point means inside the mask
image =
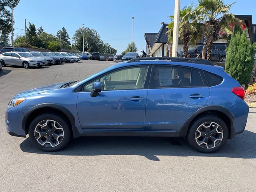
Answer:
[{"label": "black rubber tire around the blue car's rear alloy rim", "polygon": [[[214,126],[214,127],[212,126],[213,128],[215,128],[215,126],[218,124],[219,126],[217,126],[216,130],[218,130],[218,132],[222,132],[222,134],[219,134],[219,133],[212,134],[211,133],[212,131],[210,131],[210,133],[205,131],[205,134],[202,134],[202,133],[200,134],[200,132],[198,131],[198,129],[200,129],[200,126],[202,124],[207,125],[209,124],[209,122],[213,123],[212,124]],[[202,126],[201,128],[204,129],[204,126]],[[203,136],[199,137],[201,135]],[[217,137],[218,139],[221,138],[222,140],[216,140],[215,142],[212,142],[212,138],[217,138]],[[196,138],[198,139],[196,140]],[[202,141],[199,142],[199,140],[201,139]],[[205,144],[204,139],[208,140],[209,142]],[[191,124],[188,130],[187,140],[188,140],[188,143],[192,146],[192,148],[194,148],[199,152],[203,152],[203,153],[216,152],[220,150],[228,140],[228,127],[225,124],[225,122],[222,119],[218,118],[217,116],[213,116],[213,115],[201,116],[200,118],[197,118],[196,120],[194,120],[194,122]],[[198,144],[198,142],[200,143],[200,145]],[[211,145],[213,143],[214,143],[214,146]]]}]

